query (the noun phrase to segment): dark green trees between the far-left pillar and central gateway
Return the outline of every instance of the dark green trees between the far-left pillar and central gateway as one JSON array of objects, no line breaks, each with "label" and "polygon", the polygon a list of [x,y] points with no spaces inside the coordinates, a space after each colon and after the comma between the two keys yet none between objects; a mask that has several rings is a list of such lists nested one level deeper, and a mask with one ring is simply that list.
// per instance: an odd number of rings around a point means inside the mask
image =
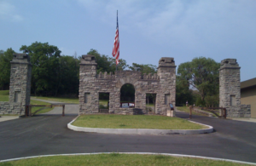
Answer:
[{"label": "dark green trees between the far-left pillar and central gateway", "polygon": [[49,43],[32,43],[20,48],[30,55],[32,64],[32,93],[57,96],[78,94],[79,60],[61,56],[61,50]]}]

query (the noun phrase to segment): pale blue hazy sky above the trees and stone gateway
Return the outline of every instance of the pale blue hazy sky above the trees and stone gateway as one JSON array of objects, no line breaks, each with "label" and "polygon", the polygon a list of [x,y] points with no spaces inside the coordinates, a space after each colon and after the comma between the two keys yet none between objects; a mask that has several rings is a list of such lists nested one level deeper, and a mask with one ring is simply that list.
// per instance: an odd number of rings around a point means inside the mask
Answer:
[{"label": "pale blue hazy sky above the trees and stone gateway", "polygon": [[0,49],[49,43],[63,55],[112,56],[119,11],[120,59],[176,66],[232,58],[241,81],[256,77],[255,0],[0,0]]}]

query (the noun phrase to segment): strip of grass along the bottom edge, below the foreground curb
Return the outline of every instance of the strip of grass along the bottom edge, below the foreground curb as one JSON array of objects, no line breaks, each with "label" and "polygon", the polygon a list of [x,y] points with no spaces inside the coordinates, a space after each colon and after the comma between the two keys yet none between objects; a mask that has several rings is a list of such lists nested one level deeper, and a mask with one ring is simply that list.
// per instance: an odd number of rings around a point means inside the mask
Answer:
[{"label": "strip of grass along the bottom edge, below the foreground curb", "polygon": [[171,157],[163,155],[140,155],[140,154],[96,154],[81,156],[55,156],[55,157],[36,157],[22,159],[12,162],[0,163],[0,166],[34,166],[34,165],[111,165],[111,166],[134,166],[134,165],[218,165],[218,166],[236,166],[246,165],[240,163],[231,163],[224,161],[215,161],[209,159],[199,159],[192,157]]}]

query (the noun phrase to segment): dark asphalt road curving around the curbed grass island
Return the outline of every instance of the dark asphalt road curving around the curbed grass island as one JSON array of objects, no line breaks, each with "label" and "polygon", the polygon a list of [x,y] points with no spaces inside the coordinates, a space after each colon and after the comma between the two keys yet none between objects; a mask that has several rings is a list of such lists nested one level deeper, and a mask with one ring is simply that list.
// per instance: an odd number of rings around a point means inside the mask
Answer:
[{"label": "dark asphalt road curving around the curbed grass island", "polygon": [[[186,113],[177,113],[187,118]],[[194,117],[212,125],[206,135],[107,135],[67,129],[76,116],[37,116],[0,123],[0,160],[83,152],[166,152],[256,163],[256,123]]]}]

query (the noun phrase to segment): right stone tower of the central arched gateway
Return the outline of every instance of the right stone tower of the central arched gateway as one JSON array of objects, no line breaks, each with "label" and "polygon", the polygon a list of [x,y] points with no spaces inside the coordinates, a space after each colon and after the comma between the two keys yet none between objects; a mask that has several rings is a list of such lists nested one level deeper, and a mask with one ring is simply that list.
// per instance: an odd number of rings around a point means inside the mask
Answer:
[{"label": "right stone tower of the central arched gateway", "polygon": [[156,111],[166,114],[169,103],[175,106],[176,97],[176,66],[173,58],[163,57],[159,60],[158,77],[160,77],[160,90],[156,96]]}]

